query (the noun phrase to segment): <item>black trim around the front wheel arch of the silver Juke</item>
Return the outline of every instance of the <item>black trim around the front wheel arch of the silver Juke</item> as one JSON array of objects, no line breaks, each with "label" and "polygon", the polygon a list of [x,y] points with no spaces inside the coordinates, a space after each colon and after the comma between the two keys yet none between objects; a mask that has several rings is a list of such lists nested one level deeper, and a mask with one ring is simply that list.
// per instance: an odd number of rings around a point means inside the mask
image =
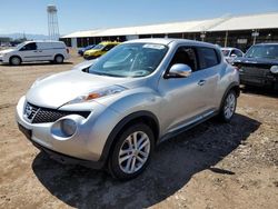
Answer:
[{"label": "black trim around the front wheel arch of the silver Juke", "polygon": [[110,135],[109,135],[109,137],[108,137],[108,139],[106,141],[106,145],[105,145],[105,148],[102,150],[101,157],[100,157],[100,159],[98,161],[100,165],[102,165],[101,166],[102,168],[107,163],[111,147],[112,147],[113,142],[116,141],[116,137],[120,133],[120,131],[123,129],[123,127],[127,126],[132,120],[140,119],[142,117],[151,118],[156,122],[156,126],[157,126],[157,129],[158,129],[157,132],[159,135],[159,122],[158,122],[157,117],[152,112],[150,112],[150,111],[138,111],[138,112],[133,112],[131,115],[128,115],[120,122],[118,122],[118,125],[110,132]]}]

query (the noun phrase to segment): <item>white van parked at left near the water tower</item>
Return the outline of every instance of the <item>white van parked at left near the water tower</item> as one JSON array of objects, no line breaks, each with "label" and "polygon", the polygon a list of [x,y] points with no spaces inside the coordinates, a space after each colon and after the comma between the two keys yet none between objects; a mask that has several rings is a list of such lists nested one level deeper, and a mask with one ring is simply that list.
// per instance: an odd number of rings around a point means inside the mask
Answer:
[{"label": "white van parked at left near the water tower", "polygon": [[66,59],[69,59],[69,50],[62,41],[26,41],[0,51],[0,62],[12,66],[31,61],[62,63]]}]

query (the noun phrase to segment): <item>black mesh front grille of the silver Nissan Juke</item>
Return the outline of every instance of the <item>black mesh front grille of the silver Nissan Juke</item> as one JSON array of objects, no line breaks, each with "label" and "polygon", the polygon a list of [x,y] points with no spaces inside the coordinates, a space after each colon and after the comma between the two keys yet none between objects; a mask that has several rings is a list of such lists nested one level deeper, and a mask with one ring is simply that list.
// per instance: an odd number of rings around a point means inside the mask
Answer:
[{"label": "black mesh front grille of the silver Nissan Juke", "polygon": [[27,103],[27,107],[31,107],[31,109],[36,110],[33,116],[31,116],[30,118],[28,117],[31,123],[54,122],[58,119],[69,115],[79,115],[85,118],[90,115],[90,111],[63,111],[49,108],[40,108],[31,103]]}]

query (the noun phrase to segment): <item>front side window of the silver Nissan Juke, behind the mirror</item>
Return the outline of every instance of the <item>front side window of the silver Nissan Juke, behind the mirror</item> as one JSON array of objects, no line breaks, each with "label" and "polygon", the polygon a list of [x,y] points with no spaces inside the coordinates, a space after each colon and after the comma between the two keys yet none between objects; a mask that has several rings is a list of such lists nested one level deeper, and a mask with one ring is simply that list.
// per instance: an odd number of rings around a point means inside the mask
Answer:
[{"label": "front side window of the silver Nissan Juke, behind the mirror", "polygon": [[192,71],[198,70],[195,49],[191,47],[178,48],[175,56],[172,57],[170,67],[173,66],[175,63],[185,63],[189,66],[192,69]]}]

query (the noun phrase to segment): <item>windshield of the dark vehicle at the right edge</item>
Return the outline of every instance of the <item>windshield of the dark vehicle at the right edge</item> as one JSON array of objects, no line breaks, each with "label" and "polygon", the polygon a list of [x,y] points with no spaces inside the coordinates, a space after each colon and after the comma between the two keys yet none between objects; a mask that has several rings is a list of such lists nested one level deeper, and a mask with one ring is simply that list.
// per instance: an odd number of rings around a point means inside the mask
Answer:
[{"label": "windshield of the dark vehicle at the right edge", "polygon": [[246,58],[267,58],[278,59],[278,46],[252,46],[247,52]]}]

